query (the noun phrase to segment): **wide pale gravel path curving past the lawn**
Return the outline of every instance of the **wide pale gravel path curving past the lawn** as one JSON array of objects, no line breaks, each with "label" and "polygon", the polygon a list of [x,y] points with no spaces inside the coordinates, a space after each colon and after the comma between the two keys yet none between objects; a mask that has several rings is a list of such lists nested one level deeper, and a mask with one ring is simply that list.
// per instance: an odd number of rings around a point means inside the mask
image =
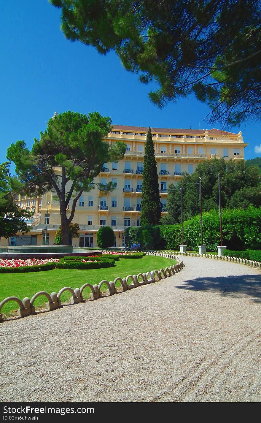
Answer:
[{"label": "wide pale gravel path curving past the lawn", "polygon": [[154,284],[0,324],[0,401],[261,401],[261,272],[184,263]]}]

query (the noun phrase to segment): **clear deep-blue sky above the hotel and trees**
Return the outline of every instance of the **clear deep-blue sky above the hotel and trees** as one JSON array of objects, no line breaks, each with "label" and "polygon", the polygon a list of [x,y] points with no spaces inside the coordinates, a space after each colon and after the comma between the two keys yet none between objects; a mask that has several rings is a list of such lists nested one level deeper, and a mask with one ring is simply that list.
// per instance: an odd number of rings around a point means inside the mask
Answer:
[{"label": "clear deep-blue sky above the hotel and trees", "polygon": [[[93,47],[66,40],[60,11],[47,0],[3,2],[0,41],[0,162],[12,142],[24,140],[31,148],[54,110],[97,110],[118,125],[211,129],[204,121],[205,104],[191,97],[160,110],[148,99],[155,85],[141,85],[114,53],[101,56]],[[249,143],[246,159],[261,155],[261,148],[255,151],[261,146],[260,122],[230,130],[241,130]]]}]

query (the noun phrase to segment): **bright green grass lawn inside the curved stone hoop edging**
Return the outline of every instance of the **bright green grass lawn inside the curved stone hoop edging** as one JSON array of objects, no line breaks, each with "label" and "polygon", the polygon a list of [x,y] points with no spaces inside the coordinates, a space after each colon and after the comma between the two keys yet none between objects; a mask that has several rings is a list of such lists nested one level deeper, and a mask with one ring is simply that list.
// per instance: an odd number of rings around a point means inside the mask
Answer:
[{"label": "bright green grass lawn inside the curved stone hoop edging", "polygon": [[[38,291],[46,291],[49,294],[59,292],[64,286],[71,288],[81,288],[84,283],[101,282],[101,280],[114,280],[115,277],[126,277],[128,275],[137,275],[138,273],[149,272],[150,270],[160,270],[165,267],[176,264],[176,261],[170,258],[146,255],[143,258],[122,258],[115,261],[114,267],[106,269],[90,269],[90,270],[68,270],[53,269],[45,272],[29,272],[29,273],[1,273],[0,274],[0,301],[6,297],[18,297],[21,300],[24,297],[32,298]],[[116,286],[120,286],[117,282]],[[107,287],[104,284],[103,291]],[[83,296],[85,299],[90,298],[90,288],[85,288]],[[71,293],[65,291],[61,300],[62,303],[71,298]],[[35,300],[35,308],[43,306],[47,302],[47,298],[40,296]],[[14,314],[18,304],[9,301],[1,310],[3,316]]]}]

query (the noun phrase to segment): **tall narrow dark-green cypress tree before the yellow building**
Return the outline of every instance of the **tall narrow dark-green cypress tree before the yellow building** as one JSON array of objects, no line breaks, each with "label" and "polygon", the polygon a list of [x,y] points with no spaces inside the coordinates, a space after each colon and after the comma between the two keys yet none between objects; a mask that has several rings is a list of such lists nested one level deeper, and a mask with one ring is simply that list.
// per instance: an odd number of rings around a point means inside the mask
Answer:
[{"label": "tall narrow dark-green cypress tree before the yellow building", "polygon": [[141,226],[158,225],[161,217],[161,208],[157,164],[152,142],[152,133],[149,128],[143,162]]}]

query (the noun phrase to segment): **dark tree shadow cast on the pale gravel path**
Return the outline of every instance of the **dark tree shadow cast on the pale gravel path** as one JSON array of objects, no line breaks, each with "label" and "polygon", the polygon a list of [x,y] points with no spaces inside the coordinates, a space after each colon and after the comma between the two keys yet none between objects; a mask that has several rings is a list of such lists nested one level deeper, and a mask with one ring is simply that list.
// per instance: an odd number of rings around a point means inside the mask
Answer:
[{"label": "dark tree shadow cast on the pale gravel path", "polygon": [[240,297],[248,295],[253,302],[261,303],[261,275],[231,275],[219,277],[197,277],[185,280],[185,285],[175,288],[191,291],[219,291],[220,295]]}]

